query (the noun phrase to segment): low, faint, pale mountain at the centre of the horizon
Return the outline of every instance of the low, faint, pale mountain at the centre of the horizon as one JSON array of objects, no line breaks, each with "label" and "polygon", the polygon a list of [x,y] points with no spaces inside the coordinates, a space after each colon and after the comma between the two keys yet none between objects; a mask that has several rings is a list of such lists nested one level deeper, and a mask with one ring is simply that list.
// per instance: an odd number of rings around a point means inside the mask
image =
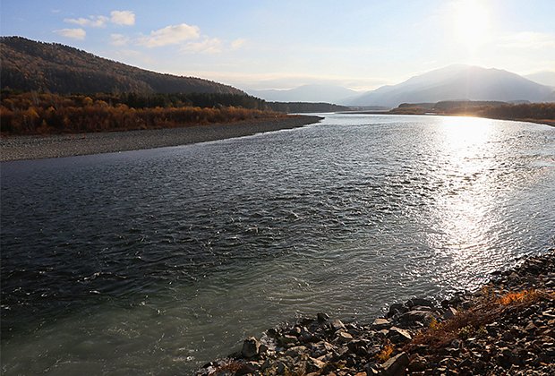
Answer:
[{"label": "low, faint, pale mountain at the centre of the horizon", "polygon": [[303,85],[290,90],[245,90],[249,94],[277,102],[328,102],[342,104],[346,98],[360,95],[360,92],[337,85]]}]

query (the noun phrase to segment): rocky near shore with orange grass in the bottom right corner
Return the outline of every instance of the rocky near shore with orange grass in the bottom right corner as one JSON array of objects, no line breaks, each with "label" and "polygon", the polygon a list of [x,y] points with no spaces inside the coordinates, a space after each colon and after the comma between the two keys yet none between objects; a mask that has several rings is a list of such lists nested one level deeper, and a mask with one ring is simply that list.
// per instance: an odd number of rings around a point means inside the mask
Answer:
[{"label": "rocky near shore with orange grass in the bottom right corner", "polygon": [[474,293],[414,298],[369,323],[325,313],[246,338],[197,375],[555,374],[555,250]]}]

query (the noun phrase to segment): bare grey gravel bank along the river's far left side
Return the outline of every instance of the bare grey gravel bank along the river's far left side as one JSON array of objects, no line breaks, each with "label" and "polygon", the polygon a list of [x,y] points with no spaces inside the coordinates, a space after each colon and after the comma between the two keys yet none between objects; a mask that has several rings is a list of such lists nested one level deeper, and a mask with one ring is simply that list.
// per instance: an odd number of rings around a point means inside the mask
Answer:
[{"label": "bare grey gravel bank along the river's far left side", "polygon": [[72,157],[179,146],[298,128],[306,124],[317,123],[320,120],[320,116],[289,115],[276,119],[195,125],[183,128],[48,136],[3,136],[0,139],[0,161]]}]

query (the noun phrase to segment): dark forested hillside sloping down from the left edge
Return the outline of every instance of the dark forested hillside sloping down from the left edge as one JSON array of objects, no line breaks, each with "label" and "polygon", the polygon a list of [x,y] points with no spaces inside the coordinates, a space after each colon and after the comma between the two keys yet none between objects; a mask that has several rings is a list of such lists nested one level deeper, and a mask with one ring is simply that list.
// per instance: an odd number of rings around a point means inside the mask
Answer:
[{"label": "dark forested hillside sloping down from the left edge", "polygon": [[20,37],[0,38],[3,88],[55,93],[245,94],[221,83],[146,71],[77,48]]}]

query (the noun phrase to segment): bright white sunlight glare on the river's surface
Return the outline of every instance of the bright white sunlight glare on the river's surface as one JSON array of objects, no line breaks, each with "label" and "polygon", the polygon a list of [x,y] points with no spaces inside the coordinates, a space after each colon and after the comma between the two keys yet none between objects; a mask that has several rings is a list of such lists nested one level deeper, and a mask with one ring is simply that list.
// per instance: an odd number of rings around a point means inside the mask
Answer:
[{"label": "bright white sunlight glare on the river's surface", "polygon": [[443,167],[438,177],[444,188],[436,198],[437,232],[430,240],[452,260],[453,273],[470,272],[487,257],[495,129],[491,120],[475,117],[445,117],[440,125],[437,153]]}]

